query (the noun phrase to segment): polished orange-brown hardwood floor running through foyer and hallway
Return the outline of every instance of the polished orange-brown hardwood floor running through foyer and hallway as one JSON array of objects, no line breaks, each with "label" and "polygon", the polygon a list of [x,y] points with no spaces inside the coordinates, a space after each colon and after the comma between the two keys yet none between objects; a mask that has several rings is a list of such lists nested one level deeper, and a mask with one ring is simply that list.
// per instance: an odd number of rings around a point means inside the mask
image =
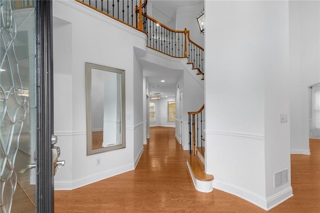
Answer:
[{"label": "polished orange-brown hardwood floor running through foyer and hallway", "polygon": [[[320,141],[291,155],[294,196],[268,212],[320,212]],[[55,191],[55,212],[266,212],[234,195],[195,190],[174,128],[151,127],[136,169],[74,190]]]}]

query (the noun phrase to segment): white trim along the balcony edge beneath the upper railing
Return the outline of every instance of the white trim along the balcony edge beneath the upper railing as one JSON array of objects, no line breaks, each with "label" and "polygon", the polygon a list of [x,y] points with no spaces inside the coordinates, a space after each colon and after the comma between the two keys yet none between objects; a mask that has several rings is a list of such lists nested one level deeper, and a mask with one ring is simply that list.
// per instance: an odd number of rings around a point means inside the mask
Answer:
[{"label": "white trim along the balcony edge beneath the upper railing", "polygon": [[117,21],[117,20],[115,20],[105,14],[102,14],[101,12],[97,12],[86,5],[83,5],[79,2],[76,2],[75,0],[54,0],[53,3],[54,2],[62,3],[64,5],[71,7],[72,9],[76,9],[82,13],[90,15],[93,18],[99,19],[107,24],[110,24],[110,25],[117,27],[121,30],[124,30],[134,36],[140,37],[142,39],[147,39],[147,35],[145,33],[141,32],[131,26],[123,24],[120,21]]}]

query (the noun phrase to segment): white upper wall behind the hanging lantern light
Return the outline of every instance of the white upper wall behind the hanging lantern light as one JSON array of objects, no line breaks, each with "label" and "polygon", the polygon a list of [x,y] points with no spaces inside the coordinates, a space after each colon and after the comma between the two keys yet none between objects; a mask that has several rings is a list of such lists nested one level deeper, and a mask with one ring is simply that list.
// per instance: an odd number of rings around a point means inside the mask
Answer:
[{"label": "white upper wall behind the hanging lantern light", "polygon": [[190,39],[204,47],[204,35],[200,33],[199,24],[196,20],[201,10],[203,10],[203,4],[177,8],[175,25],[177,30],[184,30],[184,28],[190,30]]}]

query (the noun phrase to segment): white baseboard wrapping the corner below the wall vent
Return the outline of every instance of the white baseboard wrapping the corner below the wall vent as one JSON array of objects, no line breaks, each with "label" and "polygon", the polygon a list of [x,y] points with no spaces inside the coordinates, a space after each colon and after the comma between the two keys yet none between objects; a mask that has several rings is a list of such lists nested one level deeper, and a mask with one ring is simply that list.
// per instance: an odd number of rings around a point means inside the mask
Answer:
[{"label": "white baseboard wrapping the corner below the wall vent", "polygon": [[246,201],[249,201],[259,206],[260,208],[263,208],[264,210],[270,210],[274,206],[280,204],[281,202],[293,196],[291,186],[267,198],[253,193],[252,191],[248,191],[244,188],[238,187],[236,185],[229,184],[216,179],[213,180],[212,187],[236,195]]}]

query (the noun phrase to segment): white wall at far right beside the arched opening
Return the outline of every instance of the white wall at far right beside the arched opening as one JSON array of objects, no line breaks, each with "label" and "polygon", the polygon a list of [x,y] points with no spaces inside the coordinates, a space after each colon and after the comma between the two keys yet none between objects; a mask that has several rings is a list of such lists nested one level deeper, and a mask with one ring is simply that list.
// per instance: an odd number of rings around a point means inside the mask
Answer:
[{"label": "white wall at far right beside the arched opening", "polygon": [[308,86],[320,81],[319,1],[289,1],[291,153],[310,154]]}]

